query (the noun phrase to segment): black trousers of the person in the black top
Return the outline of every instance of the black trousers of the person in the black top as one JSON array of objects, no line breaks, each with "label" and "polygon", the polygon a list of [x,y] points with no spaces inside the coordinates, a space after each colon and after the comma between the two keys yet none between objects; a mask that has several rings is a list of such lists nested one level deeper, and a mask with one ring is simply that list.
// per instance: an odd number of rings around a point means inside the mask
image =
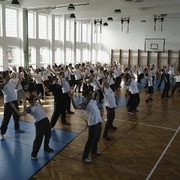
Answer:
[{"label": "black trousers of the person in the black top", "polygon": [[59,116],[62,115],[62,104],[61,102],[54,102],[54,111],[51,116],[51,127],[56,125]]}]

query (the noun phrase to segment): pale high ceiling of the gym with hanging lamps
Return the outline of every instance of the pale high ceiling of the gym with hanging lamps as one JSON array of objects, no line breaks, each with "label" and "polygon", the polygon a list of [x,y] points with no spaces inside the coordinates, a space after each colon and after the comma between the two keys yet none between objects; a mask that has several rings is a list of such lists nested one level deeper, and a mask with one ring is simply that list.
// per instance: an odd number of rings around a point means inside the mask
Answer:
[{"label": "pale high ceiling of the gym with hanging lamps", "polygon": [[[1,1],[1,0],[0,0]],[[3,1],[3,0],[2,0]],[[95,19],[113,17],[120,19],[130,17],[134,20],[146,20],[154,15],[167,14],[169,18],[180,18],[180,0],[18,0],[20,7],[27,9],[41,9],[42,12],[52,14],[70,14],[66,7],[75,5],[77,19]],[[10,4],[10,0],[2,2]],[[83,5],[89,3],[89,5]],[[82,5],[81,5],[82,4]],[[77,6],[76,6],[77,5]],[[121,9],[115,14],[115,9]]]}]

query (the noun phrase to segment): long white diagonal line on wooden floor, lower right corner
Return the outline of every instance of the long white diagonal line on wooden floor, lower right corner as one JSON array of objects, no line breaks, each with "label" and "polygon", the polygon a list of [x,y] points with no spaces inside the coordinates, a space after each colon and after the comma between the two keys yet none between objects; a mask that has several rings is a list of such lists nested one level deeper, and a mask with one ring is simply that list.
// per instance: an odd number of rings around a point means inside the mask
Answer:
[{"label": "long white diagonal line on wooden floor, lower right corner", "polygon": [[174,140],[174,138],[176,137],[178,131],[180,129],[180,126],[178,127],[178,129],[176,130],[176,132],[174,133],[173,137],[171,138],[171,140],[169,141],[168,145],[166,146],[166,148],[164,149],[163,153],[161,154],[161,156],[159,157],[158,161],[156,162],[156,164],[154,165],[154,167],[152,168],[151,172],[149,173],[149,175],[147,176],[146,180],[149,180],[152,176],[152,174],[154,173],[155,169],[157,168],[157,166],[159,165],[160,161],[162,160],[163,156],[165,155],[165,153],[167,152],[168,148],[170,147],[172,141]]}]

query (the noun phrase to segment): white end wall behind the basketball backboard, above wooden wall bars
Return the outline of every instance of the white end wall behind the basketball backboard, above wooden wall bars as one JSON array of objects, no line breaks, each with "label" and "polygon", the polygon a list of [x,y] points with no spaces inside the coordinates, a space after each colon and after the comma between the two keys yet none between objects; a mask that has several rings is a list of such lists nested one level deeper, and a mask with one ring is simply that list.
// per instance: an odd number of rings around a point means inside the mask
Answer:
[{"label": "white end wall behind the basketball backboard, above wooden wall bars", "polygon": [[126,27],[124,24],[122,32],[120,21],[103,27],[102,44],[107,56],[110,55],[111,49],[144,50],[145,38],[165,38],[165,50],[180,50],[180,18],[165,18],[162,32],[161,22],[157,22],[154,31],[153,19],[145,23],[130,21],[129,33],[126,33]]}]

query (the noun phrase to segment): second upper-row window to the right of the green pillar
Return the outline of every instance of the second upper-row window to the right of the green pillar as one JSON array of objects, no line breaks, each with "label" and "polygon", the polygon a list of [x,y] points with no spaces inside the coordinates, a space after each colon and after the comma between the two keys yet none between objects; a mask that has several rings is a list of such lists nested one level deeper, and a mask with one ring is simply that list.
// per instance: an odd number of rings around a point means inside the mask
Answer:
[{"label": "second upper-row window to the right of the green pillar", "polygon": [[47,39],[48,34],[48,24],[47,24],[47,16],[46,15],[39,15],[39,39]]}]

